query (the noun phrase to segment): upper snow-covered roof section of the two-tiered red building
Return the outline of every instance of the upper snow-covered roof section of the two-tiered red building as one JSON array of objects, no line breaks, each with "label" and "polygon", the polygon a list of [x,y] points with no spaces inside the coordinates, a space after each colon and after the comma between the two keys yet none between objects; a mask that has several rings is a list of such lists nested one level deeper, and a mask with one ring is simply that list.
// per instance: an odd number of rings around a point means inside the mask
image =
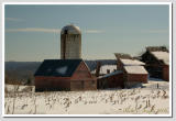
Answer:
[{"label": "upper snow-covered roof section of the two-tiered red building", "polygon": [[138,59],[122,59],[122,58],[120,58],[120,61],[122,62],[122,64],[124,65],[124,66],[139,66],[139,65],[145,65],[145,63],[143,63],[143,62],[140,62],[140,61],[138,61]]}]

